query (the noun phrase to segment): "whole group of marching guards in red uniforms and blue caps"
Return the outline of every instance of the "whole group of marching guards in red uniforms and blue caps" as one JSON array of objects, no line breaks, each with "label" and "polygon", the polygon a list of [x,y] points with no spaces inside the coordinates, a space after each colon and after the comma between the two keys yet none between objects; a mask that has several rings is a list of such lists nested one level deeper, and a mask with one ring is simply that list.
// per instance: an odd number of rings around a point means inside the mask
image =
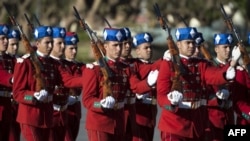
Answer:
[{"label": "whole group of marching guards in red uniforms and blue caps", "polygon": [[87,110],[89,141],[152,141],[157,104],[162,109],[158,123],[162,141],[222,141],[224,126],[235,124],[234,113],[236,124],[249,124],[250,79],[240,65],[239,47],[231,53],[231,34],[215,34],[217,56],[211,62],[195,56],[204,41],[196,28],[176,29],[176,46],[185,69],[179,80],[182,91],[178,91],[172,89],[176,70],[170,52],[151,60],[150,33],[132,37],[129,28],[105,28],[103,59],[113,74],[109,78],[112,94],[106,97],[98,61],[75,60],[76,33],[39,26],[34,38],[44,84],[41,90],[36,90],[30,54],[16,56],[19,32],[0,25],[0,140],[18,141],[21,133],[27,141],[74,141],[82,105]]}]

